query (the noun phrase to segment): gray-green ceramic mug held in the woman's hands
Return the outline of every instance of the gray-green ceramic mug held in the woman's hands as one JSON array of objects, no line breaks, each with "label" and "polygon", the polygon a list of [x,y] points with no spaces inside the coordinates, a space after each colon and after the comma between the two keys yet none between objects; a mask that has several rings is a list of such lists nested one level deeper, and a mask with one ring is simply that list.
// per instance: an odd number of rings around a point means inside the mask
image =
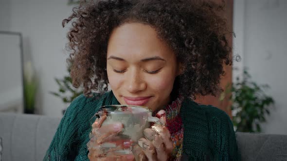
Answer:
[{"label": "gray-green ceramic mug held in the woman's hands", "polygon": [[[115,122],[122,123],[124,128],[117,134],[117,137],[120,138],[119,140],[132,143],[132,145],[137,144],[137,141],[144,137],[143,130],[150,128],[150,123],[161,124],[160,119],[158,117],[153,117],[151,110],[147,107],[135,105],[102,106],[90,119],[90,124],[92,125],[97,118],[100,118],[103,115],[107,116],[107,118],[102,123],[102,126]],[[94,136],[90,134],[90,138],[92,137]],[[104,149],[104,151],[108,151],[109,148],[116,148],[118,145],[125,145],[125,143],[118,143],[117,141],[113,143],[104,143],[101,145],[101,148]],[[117,155],[132,153],[132,146],[123,147],[124,148],[119,149],[114,153]]]}]

